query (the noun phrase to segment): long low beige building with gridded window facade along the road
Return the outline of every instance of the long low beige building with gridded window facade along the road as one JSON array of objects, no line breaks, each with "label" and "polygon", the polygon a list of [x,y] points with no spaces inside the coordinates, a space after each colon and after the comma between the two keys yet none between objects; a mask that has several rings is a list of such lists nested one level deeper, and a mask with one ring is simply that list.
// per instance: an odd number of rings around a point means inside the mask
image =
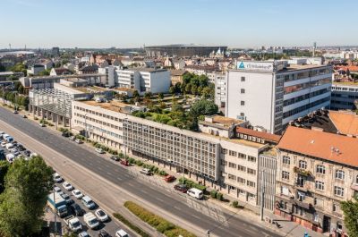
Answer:
[{"label": "long low beige building with gridded window facade along the road", "polygon": [[[72,128],[128,154],[184,169],[197,181],[258,205],[260,154],[269,144],[257,134],[243,135],[248,131],[235,137],[233,124],[247,122],[216,116],[200,123],[202,132],[186,131],[125,114],[125,106],[117,101],[72,101]],[[274,199],[268,202],[265,207],[273,209]]]}]

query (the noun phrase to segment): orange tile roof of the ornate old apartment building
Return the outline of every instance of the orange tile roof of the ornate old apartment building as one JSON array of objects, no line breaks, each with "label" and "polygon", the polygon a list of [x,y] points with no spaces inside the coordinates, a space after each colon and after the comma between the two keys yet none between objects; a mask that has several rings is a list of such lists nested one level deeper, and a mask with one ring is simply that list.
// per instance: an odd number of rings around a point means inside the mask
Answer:
[{"label": "orange tile roof of the ornate old apartment building", "polygon": [[358,167],[358,139],[343,135],[288,126],[277,148]]}]

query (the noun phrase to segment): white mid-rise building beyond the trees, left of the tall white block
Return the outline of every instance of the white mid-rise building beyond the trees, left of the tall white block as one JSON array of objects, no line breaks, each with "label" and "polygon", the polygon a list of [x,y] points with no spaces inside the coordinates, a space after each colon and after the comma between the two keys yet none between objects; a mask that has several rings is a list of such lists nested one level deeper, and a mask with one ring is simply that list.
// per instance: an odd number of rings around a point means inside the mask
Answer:
[{"label": "white mid-rise building beyond the trees, left of the tall white block", "polygon": [[141,94],[167,92],[170,88],[170,72],[165,69],[137,68],[115,72],[119,87],[137,89]]}]

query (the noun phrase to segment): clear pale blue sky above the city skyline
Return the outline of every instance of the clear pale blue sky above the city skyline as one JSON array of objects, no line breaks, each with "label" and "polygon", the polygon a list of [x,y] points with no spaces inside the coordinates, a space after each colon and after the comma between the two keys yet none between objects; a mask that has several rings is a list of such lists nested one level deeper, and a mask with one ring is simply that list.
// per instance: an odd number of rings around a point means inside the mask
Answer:
[{"label": "clear pale blue sky above the city skyline", "polygon": [[356,0],[0,0],[0,48],[358,45]]}]

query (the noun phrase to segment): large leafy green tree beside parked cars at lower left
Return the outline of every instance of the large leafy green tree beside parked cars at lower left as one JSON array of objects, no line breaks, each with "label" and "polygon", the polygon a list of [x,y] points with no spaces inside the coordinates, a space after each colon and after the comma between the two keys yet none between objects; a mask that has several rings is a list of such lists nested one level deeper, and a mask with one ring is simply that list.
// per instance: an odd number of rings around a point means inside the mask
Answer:
[{"label": "large leafy green tree beside parked cars at lower left", "polygon": [[31,236],[41,230],[54,170],[42,157],[16,159],[5,176],[0,195],[0,231],[7,236]]}]

